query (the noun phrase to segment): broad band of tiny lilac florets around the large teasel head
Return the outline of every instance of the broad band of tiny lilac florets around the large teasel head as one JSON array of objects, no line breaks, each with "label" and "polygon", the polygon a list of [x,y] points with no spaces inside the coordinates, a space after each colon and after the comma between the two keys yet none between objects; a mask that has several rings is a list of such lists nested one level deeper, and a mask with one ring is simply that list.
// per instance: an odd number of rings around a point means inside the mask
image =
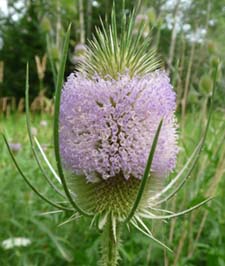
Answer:
[{"label": "broad band of tiny lilac florets around the large teasel head", "polygon": [[175,167],[175,93],[164,71],[118,80],[71,74],[64,85],[60,150],[64,165],[88,181],[122,175],[141,179],[163,118],[152,169],[166,176]]}]

